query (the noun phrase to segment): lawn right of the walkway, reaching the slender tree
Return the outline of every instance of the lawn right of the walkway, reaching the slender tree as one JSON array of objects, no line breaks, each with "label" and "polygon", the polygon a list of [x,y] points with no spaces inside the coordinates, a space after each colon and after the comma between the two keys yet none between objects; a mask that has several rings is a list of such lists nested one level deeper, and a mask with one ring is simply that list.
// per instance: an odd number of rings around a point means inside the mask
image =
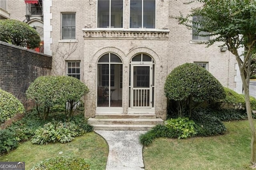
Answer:
[{"label": "lawn right of the walkway, reaching the slender tree", "polygon": [[228,133],[204,138],[156,138],[144,146],[146,170],[250,169],[251,133],[248,121],[224,123]]}]

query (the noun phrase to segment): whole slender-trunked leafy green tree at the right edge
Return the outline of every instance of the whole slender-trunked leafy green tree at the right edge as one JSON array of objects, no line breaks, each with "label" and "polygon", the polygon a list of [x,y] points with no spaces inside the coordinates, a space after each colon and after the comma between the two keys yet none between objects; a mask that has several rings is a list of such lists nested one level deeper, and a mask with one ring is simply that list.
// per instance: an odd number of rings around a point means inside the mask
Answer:
[{"label": "whole slender-trunked leafy green tree at the right edge", "polygon": [[[222,42],[235,55],[242,78],[246,112],[252,131],[251,162],[256,168],[256,129],[250,107],[249,83],[252,51],[256,48],[256,0],[191,0],[199,2],[199,8],[193,8],[187,16],[174,16],[180,24],[200,32],[209,32],[208,45]],[[201,16],[202,20],[192,21],[192,16]],[[198,27],[197,25],[200,25]],[[204,36],[204,35],[200,35]],[[244,47],[244,53],[238,49]]]}]

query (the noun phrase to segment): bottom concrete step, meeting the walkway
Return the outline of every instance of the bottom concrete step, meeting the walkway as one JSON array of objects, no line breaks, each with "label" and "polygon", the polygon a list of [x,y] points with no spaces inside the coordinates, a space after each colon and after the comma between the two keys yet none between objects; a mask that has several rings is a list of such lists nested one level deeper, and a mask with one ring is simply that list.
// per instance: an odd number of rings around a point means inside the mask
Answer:
[{"label": "bottom concrete step, meeting the walkway", "polygon": [[155,125],[94,125],[94,130],[150,130]]}]

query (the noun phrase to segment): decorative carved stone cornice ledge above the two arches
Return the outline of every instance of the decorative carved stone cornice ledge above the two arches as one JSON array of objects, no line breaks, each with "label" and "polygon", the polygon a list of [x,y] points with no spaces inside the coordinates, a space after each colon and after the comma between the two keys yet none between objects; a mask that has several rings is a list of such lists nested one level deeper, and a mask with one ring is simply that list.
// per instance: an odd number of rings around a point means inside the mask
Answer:
[{"label": "decorative carved stone cornice ledge above the two arches", "polygon": [[84,28],[84,39],[168,40],[167,29]]}]

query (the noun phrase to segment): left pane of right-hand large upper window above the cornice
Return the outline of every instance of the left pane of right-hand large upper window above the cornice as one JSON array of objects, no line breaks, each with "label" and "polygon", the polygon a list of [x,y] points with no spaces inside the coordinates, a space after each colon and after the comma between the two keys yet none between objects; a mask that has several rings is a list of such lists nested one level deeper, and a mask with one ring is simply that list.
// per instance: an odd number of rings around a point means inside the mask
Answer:
[{"label": "left pane of right-hand large upper window above the cornice", "polygon": [[142,28],[142,0],[130,0],[130,28]]}]

